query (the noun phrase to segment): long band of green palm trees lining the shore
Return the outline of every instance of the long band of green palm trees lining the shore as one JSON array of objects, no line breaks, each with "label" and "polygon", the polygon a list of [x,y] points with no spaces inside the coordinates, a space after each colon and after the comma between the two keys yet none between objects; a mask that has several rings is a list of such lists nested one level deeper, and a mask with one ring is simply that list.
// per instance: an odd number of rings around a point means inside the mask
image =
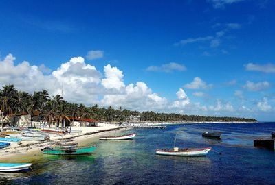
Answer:
[{"label": "long band of green palm trees lining the shore", "polygon": [[50,97],[47,90],[34,92],[33,95],[17,90],[13,85],[6,85],[0,90],[0,106],[4,116],[31,114],[32,120],[43,119],[48,123],[72,118],[89,118],[100,121],[127,121],[129,116],[140,116],[140,121],[256,121],[236,117],[197,116],[185,114],[166,114],[153,111],[138,112],[120,107],[115,110],[99,108],[98,105],[84,106],[83,104],[69,103],[61,95]]}]

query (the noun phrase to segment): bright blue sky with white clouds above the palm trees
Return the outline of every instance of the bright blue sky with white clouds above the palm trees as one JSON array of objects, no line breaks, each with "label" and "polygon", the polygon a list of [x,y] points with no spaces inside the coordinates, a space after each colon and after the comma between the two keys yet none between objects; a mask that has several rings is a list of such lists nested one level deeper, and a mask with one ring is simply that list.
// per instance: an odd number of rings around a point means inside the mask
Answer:
[{"label": "bright blue sky with white clouds above the palm trees", "polygon": [[0,85],[51,95],[62,86],[65,99],[86,105],[274,121],[274,8],[0,1]]}]

